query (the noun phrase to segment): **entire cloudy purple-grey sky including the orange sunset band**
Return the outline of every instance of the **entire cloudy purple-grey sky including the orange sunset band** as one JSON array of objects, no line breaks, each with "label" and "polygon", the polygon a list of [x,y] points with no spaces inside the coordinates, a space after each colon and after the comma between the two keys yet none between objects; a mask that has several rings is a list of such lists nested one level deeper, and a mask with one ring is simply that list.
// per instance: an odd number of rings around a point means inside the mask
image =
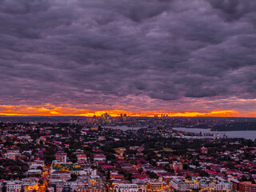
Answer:
[{"label": "entire cloudy purple-grey sky including the orange sunset band", "polygon": [[255,0],[0,0],[0,115],[256,117]]}]

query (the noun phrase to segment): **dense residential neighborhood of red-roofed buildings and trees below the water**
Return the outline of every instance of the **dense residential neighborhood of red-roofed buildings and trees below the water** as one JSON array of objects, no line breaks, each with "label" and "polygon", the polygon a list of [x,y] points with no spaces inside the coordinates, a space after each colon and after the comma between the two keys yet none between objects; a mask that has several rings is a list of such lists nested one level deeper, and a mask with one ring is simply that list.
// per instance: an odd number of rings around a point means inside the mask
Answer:
[{"label": "dense residential neighborhood of red-roofed buildings and trees below the water", "polygon": [[150,121],[127,130],[95,126],[93,118],[1,122],[1,189],[255,191],[255,140],[187,133],[166,118]]}]

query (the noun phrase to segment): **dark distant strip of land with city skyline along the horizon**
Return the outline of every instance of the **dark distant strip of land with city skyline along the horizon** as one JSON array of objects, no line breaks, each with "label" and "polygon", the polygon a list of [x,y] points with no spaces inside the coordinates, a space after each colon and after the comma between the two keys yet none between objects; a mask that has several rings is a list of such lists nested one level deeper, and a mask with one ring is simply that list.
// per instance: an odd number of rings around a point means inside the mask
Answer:
[{"label": "dark distant strip of land with city skyline along the horizon", "polygon": [[78,123],[82,125],[93,124],[94,126],[128,126],[146,127],[150,122],[161,122],[159,125],[170,127],[202,128],[218,131],[231,130],[256,130],[256,118],[230,118],[230,117],[170,117],[166,114],[154,117],[130,117],[120,114],[112,117],[110,114],[102,114],[96,117],[83,116],[0,116],[0,122],[23,122],[23,123]]}]

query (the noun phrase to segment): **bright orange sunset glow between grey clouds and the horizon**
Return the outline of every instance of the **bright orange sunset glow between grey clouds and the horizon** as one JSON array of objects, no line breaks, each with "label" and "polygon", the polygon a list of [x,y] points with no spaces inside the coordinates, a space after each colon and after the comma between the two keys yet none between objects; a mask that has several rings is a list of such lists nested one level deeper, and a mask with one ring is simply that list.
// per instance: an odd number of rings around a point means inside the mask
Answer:
[{"label": "bright orange sunset glow between grey clouds and the horizon", "polygon": [[110,114],[112,117],[118,117],[120,114],[127,114],[130,117],[154,117],[162,114],[169,117],[250,117],[256,118],[256,113],[241,114],[236,110],[213,110],[210,112],[185,111],[126,111],[126,110],[86,110],[69,106],[53,106],[46,104],[44,106],[6,106],[0,105],[0,115],[7,116],[85,116],[97,117],[102,114]]}]

